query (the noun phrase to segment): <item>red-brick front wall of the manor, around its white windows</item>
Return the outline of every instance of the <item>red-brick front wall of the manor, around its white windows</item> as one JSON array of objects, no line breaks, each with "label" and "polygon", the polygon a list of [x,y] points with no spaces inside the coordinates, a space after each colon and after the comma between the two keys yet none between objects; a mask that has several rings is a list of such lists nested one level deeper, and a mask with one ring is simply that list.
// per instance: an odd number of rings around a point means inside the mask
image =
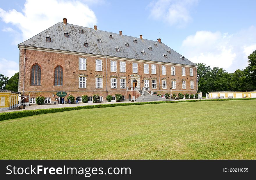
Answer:
[{"label": "red-brick front wall of the manor, around its white windows", "polygon": [[[178,94],[178,92],[182,92],[183,94],[195,94],[197,90],[197,82],[196,82],[196,68],[193,67],[193,77],[189,76],[189,67],[186,67],[186,76],[182,76],[181,68],[183,66],[175,66],[176,75],[171,76],[171,65],[166,65],[166,75],[161,74],[161,63],[147,63],[149,64],[149,74],[144,74],[144,62],[136,62],[136,61],[124,61],[126,62],[126,72],[120,72],[120,61],[117,59],[107,58],[107,75],[106,75],[106,57],[90,57],[90,56],[82,56],[82,55],[74,55],[74,54],[65,54],[65,53],[56,53],[56,52],[45,52],[45,51],[36,51],[36,50],[26,50],[26,61],[25,61],[25,79],[24,79],[24,94],[30,94],[31,97],[37,97],[39,95],[45,97],[51,97],[52,102],[53,98],[52,94],[56,94],[59,91],[65,91],[67,94],[72,94],[73,96],[82,96],[87,94],[88,96],[92,96],[93,94],[99,94],[103,96],[103,101],[106,101],[106,95],[111,94],[122,94],[125,95],[128,99],[128,94],[131,94],[131,98],[133,96],[133,92],[126,91],[126,89],[120,89],[120,79],[117,78],[117,89],[111,89],[111,78],[110,76],[115,75],[117,77],[125,76],[126,78],[126,87],[131,87],[132,82],[130,81],[128,84],[128,79],[130,79],[130,75],[132,73],[132,63],[138,63],[138,75],[140,75],[141,87],[144,87],[144,83],[142,83],[142,79],[145,77],[148,78],[157,78],[157,89],[152,90],[151,79],[150,90],[156,91],[157,93],[164,94],[166,92],[170,93],[171,88],[171,79],[176,79],[176,90],[172,90],[172,92]],[[79,70],[79,58],[87,59],[87,70]],[[96,71],[95,60],[102,60],[102,71]],[[49,61],[48,61],[49,60]],[[110,72],[110,61],[117,61],[117,72]],[[70,62],[70,63],[69,63]],[[38,63],[41,66],[41,85],[40,86],[31,86],[30,85],[30,76],[31,76],[31,67],[33,64]],[[151,64],[155,64],[157,68],[157,74],[151,74]],[[56,66],[61,65],[63,68],[63,86],[54,86],[54,69]],[[19,91],[23,91],[23,70],[24,70],[24,49],[20,50],[20,59],[19,59]],[[159,71],[160,67],[160,71]],[[160,75],[159,75],[160,72]],[[87,85],[86,89],[79,88],[79,76],[78,74],[86,74],[87,77]],[[95,87],[95,75],[103,76],[103,88],[96,89]],[[107,82],[106,82],[107,76]],[[159,78],[160,78],[160,89],[159,89]],[[167,80],[167,89],[162,89],[162,78],[166,78]],[[186,90],[182,90],[182,79],[186,79]],[[190,89],[190,80],[194,80],[194,90]],[[107,89],[106,89],[107,83]],[[136,94],[135,94],[136,96]]]}]

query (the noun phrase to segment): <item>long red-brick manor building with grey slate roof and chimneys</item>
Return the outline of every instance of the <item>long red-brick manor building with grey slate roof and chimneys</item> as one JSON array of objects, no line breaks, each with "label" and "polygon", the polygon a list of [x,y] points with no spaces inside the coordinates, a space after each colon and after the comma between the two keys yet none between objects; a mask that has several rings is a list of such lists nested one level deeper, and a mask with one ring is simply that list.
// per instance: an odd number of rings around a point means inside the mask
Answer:
[{"label": "long red-brick manor building with grey slate roof and chimneys", "polygon": [[39,95],[45,103],[59,101],[60,91],[74,97],[99,94],[101,101],[109,94],[131,101],[139,94],[135,87],[157,94],[170,88],[176,94],[197,92],[196,65],[161,39],[72,25],[64,18],[18,47],[19,92],[30,94],[31,103]]}]

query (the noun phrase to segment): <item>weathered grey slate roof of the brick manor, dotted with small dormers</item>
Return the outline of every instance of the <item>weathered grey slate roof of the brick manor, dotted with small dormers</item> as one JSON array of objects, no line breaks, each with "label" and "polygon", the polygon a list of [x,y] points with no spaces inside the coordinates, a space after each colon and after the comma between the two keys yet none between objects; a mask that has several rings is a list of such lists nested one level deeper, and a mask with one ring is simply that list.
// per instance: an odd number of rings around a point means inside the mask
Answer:
[{"label": "weathered grey slate roof of the brick manor, dotted with small dormers", "polygon": [[[83,30],[83,33],[79,33],[80,29]],[[64,33],[66,32],[69,37],[64,37]],[[109,35],[112,35],[113,39],[110,39]],[[51,37],[51,42],[46,42],[46,37]],[[99,38],[102,42],[97,41]],[[182,57],[181,54],[175,52],[162,42],[159,43],[148,39],[136,38],[137,43],[134,43],[134,39],[135,37],[131,36],[59,22],[27,41],[18,44],[18,46],[32,46],[196,66],[186,58],[182,60],[180,58]],[[85,42],[88,43],[88,47],[83,46]],[[129,47],[125,46],[127,42],[129,43]],[[158,47],[154,46],[155,43],[158,44]],[[152,47],[152,51],[148,49],[150,46]],[[115,50],[116,47],[120,48],[119,52]],[[141,53],[143,50],[145,50],[145,55]],[[171,50],[171,53],[168,53],[167,50]],[[165,53],[167,54],[167,58],[163,56]]]}]

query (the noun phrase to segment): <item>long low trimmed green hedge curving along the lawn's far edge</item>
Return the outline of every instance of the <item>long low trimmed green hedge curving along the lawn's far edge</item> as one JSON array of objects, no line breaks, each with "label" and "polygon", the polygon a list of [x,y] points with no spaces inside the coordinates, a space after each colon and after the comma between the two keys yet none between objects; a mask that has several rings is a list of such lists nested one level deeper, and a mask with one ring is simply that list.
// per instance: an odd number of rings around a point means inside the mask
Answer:
[{"label": "long low trimmed green hedge curving along the lawn's far edge", "polygon": [[138,103],[115,103],[115,104],[97,104],[89,106],[76,106],[76,107],[65,107],[65,108],[52,108],[52,109],[38,109],[38,110],[24,110],[24,111],[14,111],[14,112],[2,112],[0,113],[0,121],[7,119],[15,119],[20,117],[33,116],[38,114],[48,114],[53,112],[64,112],[80,109],[94,109],[94,108],[107,108],[116,106],[132,106],[141,104],[161,104],[161,103],[186,103],[186,102],[200,102],[200,101],[235,101],[235,100],[253,100],[256,98],[247,99],[193,99],[186,101],[152,101],[152,102],[138,102]]}]

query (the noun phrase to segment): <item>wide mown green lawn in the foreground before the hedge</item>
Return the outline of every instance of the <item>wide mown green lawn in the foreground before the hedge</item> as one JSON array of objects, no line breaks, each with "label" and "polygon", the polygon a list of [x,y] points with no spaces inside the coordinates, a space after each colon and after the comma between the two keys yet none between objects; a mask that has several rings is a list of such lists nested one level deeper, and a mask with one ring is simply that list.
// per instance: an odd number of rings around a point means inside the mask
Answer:
[{"label": "wide mown green lawn in the foreground before the hedge", "polygon": [[0,136],[0,159],[256,159],[256,100],[42,114]]}]

